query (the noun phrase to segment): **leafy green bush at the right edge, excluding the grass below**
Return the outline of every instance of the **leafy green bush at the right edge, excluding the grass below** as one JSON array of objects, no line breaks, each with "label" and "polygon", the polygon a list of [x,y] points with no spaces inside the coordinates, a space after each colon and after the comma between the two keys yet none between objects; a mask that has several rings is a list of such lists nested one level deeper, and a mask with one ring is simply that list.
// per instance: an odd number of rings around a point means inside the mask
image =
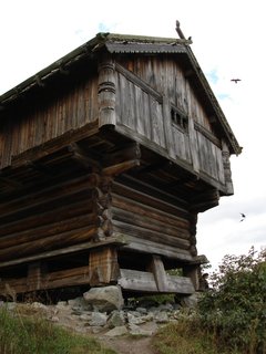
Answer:
[{"label": "leafy green bush at the right edge, excluding the grass below", "polygon": [[198,304],[202,325],[221,345],[266,353],[266,250],[225,256]]}]

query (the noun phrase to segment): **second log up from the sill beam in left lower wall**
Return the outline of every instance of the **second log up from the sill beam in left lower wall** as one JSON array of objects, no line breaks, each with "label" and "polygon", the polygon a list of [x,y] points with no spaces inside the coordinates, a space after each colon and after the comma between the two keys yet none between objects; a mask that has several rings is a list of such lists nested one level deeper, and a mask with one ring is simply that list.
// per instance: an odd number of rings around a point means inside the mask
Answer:
[{"label": "second log up from the sill beam in left lower wall", "polygon": [[94,214],[83,215],[74,218],[69,218],[58,222],[40,226],[33,229],[28,229],[21,232],[11,233],[0,238],[0,254],[1,250],[8,247],[40,240],[57,233],[62,233],[93,225],[99,226],[99,217]]}]

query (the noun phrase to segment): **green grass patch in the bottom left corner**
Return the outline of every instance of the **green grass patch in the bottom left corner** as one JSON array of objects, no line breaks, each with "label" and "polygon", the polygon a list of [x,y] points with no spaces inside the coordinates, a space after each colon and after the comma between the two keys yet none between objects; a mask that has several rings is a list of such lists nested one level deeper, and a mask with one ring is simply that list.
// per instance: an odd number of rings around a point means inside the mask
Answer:
[{"label": "green grass patch in the bottom left corner", "polygon": [[42,317],[12,315],[0,308],[1,354],[115,354],[94,339],[74,335]]}]

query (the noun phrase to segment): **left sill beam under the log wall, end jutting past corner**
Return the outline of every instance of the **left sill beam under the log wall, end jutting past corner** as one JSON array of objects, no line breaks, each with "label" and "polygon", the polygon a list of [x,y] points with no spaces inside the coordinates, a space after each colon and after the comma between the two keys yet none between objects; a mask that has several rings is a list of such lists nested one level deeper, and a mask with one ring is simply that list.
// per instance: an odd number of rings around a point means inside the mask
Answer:
[{"label": "left sill beam under the log wall, end jutting past corner", "polygon": [[106,238],[105,240],[102,240],[99,242],[94,242],[94,241],[90,240],[88,242],[73,244],[71,247],[63,247],[63,248],[52,250],[52,251],[40,252],[38,254],[32,254],[30,257],[23,257],[23,258],[19,258],[19,259],[14,258],[14,259],[11,259],[6,262],[1,261],[0,269],[6,268],[6,267],[10,267],[10,266],[29,263],[29,262],[37,261],[37,260],[48,259],[48,258],[52,258],[52,257],[57,257],[57,256],[71,254],[71,253],[85,251],[85,250],[90,250],[90,249],[94,249],[94,248],[99,248],[99,247],[104,247],[108,244],[122,247],[122,246],[127,244],[127,240],[125,239],[124,235],[116,232],[116,233],[113,233],[113,236]]}]

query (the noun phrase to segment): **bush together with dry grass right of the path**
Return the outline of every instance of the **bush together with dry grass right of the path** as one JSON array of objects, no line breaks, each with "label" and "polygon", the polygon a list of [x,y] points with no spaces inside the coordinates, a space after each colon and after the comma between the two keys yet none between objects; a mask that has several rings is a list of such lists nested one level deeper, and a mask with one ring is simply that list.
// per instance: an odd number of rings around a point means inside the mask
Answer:
[{"label": "bush together with dry grass right of the path", "polygon": [[266,354],[266,249],[225,256],[194,311],[154,337],[160,354]]}]

